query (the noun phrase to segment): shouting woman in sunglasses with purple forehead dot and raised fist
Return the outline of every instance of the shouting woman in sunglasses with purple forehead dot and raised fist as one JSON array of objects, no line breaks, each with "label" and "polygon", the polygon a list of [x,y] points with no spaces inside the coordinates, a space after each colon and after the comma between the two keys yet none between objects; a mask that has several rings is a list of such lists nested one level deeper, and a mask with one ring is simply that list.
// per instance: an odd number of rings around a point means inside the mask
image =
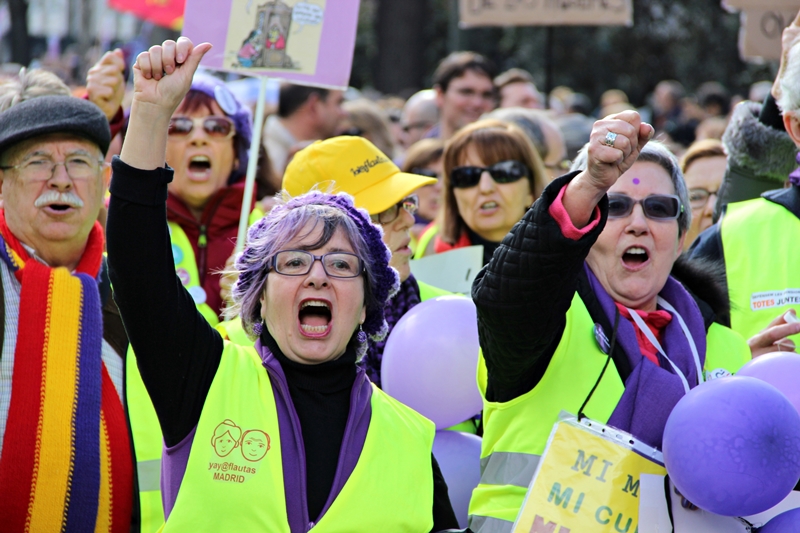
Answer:
[{"label": "shouting woman in sunglasses with purple forehead dot and raised fist", "polygon": [[530,482],[562,410],[660,448],[690,388],[750,359],[716,322],[727,300],[708,269],[692,271],[692,292],[671,275],[691,208],[652,133],[635,111],[596,122],[575,171],[548,185],[475,280],[488,374],[476,532],[513,522],[516,486]]}]

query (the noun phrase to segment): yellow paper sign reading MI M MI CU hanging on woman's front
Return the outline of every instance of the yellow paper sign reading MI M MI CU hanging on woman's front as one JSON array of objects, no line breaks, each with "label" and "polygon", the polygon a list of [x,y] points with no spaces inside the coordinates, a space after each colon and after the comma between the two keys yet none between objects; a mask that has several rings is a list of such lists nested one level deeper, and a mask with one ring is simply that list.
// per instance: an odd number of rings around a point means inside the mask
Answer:
[{"label": "yellow paper sign reading MI M MI CU hanging on woman's front", "polygon": [[630,435],[592,425],[607,434],[574,419],[555,425],[514,533],[636,532],[639,476],[666,470],[623,446]]}]

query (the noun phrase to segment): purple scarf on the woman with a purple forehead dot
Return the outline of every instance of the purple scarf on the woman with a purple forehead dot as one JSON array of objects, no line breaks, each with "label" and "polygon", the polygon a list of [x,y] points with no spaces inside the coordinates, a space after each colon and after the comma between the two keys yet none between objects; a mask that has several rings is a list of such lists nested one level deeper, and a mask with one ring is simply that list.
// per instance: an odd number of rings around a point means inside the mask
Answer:
[{"label": "purple scarf on the woman with a purple forehead dot", "polygon": [[[605,291],[589,266],[584,264],[584,268],[603,312],[609,322],[613,324],[617,312],[614,300]],[[672,276],[667,279],[659,296],[672,304],[683,317],[697,346],[700,363],[704,364],[706,358],[705,323],[694,298]],[[661,354],[658,354],[660,367],[642,355],[634,327],[628,320],[619,321],[617,344],[628,356],[633,371],[625,381],[625,392],[611,414],[608,424],[627,431],[643,442],[661,449],[667,418],[672,412],[672,408],[686,392],[680,377],[673,373],[672,366]],[[610,334],[608,336],[611,337]],[[697,370],[689,342],[678,320],[673,320],[667,325],[661,345],[672,362],[686,376],[689,386],[696,387],[698,384]]]}]

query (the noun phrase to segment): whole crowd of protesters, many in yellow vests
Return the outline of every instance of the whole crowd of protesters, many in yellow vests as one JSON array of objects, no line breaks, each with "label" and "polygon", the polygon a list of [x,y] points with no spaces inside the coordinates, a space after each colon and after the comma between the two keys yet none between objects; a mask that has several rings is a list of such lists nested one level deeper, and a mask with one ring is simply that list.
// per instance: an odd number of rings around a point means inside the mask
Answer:
[{"label": "whole crowd of protesters, many in yellow vests", "polygon": [[[283,84],[253,152],[209,49],[0,81],[4,530],[510,532],[562,411],[660,449],[692,388],[795,350],[800,20],[747,99],[594,106],[454,52],[405,100]],[[451,294],[410,262],[469,246],[466,524],[381,369]]]}]

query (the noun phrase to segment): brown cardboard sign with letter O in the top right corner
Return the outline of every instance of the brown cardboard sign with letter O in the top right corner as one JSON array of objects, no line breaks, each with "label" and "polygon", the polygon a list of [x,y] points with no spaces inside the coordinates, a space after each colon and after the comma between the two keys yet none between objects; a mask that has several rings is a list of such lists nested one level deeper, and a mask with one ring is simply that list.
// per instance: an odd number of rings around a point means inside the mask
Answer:
[{"label": "brown cardboard sign with letter O in the top right corner", "polygon": [[743,11],[739,32],[739,52],[742,58],[780,59],[781,34],[797,16],[798,7],[773,11]]}]

